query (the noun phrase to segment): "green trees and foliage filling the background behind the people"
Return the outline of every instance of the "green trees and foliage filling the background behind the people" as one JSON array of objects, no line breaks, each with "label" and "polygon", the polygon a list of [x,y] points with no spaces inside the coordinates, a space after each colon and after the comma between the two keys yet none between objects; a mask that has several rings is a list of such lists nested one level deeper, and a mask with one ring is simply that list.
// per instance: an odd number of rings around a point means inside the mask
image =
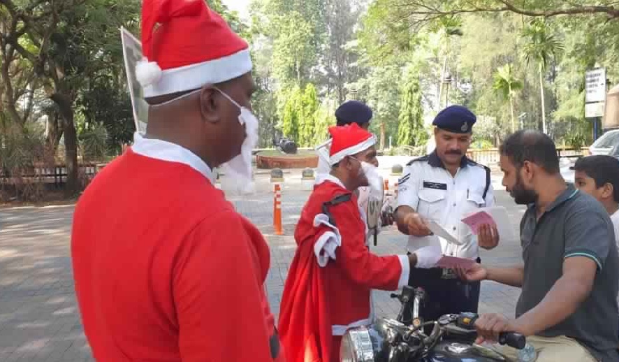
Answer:
[{"label": "green trees and foliage filling the background behind the people", "polygon": [[[453,103],[479,116],[476,145],[522,127],[581,145],[585,71],[619,78],[616,1],[253,0],[249,17],[207,2],[252,45],[261,147],[323,142],[347,99],[372,107],[381,147],[423,145]],[[3,154],[27,158],[8,147],[41,139],[31,163],[57,156],[75,191],[78,159],[131,141],[118,29],[139,34],[140,3],[0,0]]]}]

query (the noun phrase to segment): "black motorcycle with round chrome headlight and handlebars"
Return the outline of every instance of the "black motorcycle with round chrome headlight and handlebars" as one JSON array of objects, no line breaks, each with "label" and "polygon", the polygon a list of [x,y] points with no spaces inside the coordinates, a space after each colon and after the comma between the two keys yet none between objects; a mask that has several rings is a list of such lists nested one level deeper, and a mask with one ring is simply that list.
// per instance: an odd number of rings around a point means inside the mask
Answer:
[{"label": "black motorcycle with round chrome headlight and handlebars", "polygon": [[[370,326],[351,328],[342,338],[342,362],[509,362],[511,359],[474,343],[475,313],[445,314],[437,321],[423,321],[425,291],[404,287],[392,294],[402,307],[396,319],[379,318]],[[412,320],[404,321],[407,310]],[[501,333],[501,345],[523,349],[525,336]]]}]

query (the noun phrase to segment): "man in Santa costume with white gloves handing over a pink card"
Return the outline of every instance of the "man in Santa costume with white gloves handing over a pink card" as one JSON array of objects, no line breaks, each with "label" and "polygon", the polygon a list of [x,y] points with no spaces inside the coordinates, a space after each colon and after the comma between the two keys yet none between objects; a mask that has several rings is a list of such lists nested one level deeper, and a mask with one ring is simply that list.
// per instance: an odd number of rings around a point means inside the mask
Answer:
[{"label": "man in Santa costume with white gloves handing over a pink card", "polygon": [[376,140],[357,124],[329,133],[331,172],[301,212],[279,314],[282,345],[293,362],[340,361],[347,329],[372,323],[372,289],[400,289],[411,268],[431,268],[441,257],[435,247],[408,256],[370,252],[354,191],[379,187]]}]

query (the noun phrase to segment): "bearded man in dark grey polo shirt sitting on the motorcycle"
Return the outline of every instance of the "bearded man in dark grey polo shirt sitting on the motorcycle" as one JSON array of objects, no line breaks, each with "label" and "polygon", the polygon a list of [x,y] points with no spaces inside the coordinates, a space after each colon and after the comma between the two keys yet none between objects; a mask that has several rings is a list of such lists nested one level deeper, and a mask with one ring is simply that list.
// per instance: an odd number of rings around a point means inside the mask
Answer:
[{"label": "bearded man in dark grey polo shirt sitting on the motorcycle", "polygon": [[[563,180],[555,144],[544,133],[518,131],[500,148],[503,185],[528,205],[520,222],[524,264],[460,270],[466,280],[521,287],[516,319],[476,321],[478,342],[513,331],[527,336],[537,362],[619,361],[619,256],[613,224],[595,198]],[[516,357],[514,349],[504,349]]]}]

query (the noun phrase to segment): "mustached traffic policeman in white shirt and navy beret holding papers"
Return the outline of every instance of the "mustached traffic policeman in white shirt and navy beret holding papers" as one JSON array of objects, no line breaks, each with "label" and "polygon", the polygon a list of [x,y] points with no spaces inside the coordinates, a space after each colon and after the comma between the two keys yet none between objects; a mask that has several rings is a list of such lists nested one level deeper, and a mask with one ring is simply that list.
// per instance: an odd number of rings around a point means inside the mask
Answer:
[{"label": "mustached traffic policeman in white shirt and navy beret holding papers", "polygon": [[[475,115],[463,106],[442,110],[432,124],[436,149],[407,164],[398,182],[399,194],[395,221],[402,233],[409,235],[408,252],[435,245],[446,256],[480,262],[478,245],[493,249],[499,242],[494,227],[483,225],[478,236],[461,219],[476,208],[494,204],[490,168],[466,156],[472,140]],[[432,234],[428,222],[436,222],[449,231],[461,245]],[[443,314],[477,312],[479,282],[458,280],[449,269],[413,269],[412,287],[428,293],[428,303],[421,317],[435,320]]]}]

